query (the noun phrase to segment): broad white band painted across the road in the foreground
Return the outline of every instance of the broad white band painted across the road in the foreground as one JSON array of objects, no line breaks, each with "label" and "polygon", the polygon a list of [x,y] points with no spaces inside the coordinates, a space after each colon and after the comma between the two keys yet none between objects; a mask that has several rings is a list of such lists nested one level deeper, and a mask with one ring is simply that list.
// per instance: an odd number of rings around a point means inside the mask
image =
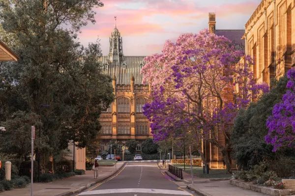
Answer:
[{"label": "broad white band painted across the road in the foreground", "polygon": [[148,194],[170,194],[178,196],[191,196],[190,193],[185,191],[174,191],[165,189],[105,189],[105,190],[95,190],[87,191],[79,194],[79,196],[86,195],[100,195],[100,194],[114,194],[114,193],[148,193]]}]

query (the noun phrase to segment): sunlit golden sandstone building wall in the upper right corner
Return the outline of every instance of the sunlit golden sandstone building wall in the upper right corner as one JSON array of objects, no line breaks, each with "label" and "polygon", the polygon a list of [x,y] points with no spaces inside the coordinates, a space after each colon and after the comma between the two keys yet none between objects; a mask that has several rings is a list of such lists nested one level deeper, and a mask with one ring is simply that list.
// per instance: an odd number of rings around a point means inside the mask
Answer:
[{"label": "sunlit golden sandstone building wall in the upper right corner", "polygon": [[245,25],[246,55],[258,83],[270,84],[295,65],[295,0],[262,0]]}]

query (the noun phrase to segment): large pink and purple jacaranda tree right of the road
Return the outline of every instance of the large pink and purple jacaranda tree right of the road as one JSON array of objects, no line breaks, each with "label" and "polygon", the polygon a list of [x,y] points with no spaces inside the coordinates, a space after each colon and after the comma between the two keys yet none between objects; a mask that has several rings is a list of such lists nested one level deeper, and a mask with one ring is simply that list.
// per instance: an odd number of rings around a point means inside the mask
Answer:
[{"label": "large pink and purple jacaranda tree right of the road", "polygon": [[[146,57],[142,73],[152,86],[153,101],[144,113],[151,121],[155,140],[192,135],[217,146],[228,172],[231,125],[240,108],[247,107],[266,84],[256,85],[250,57],[244,57],[225,37],[202,30],[167,41],[162,54]],[[223,137],[224,141],[220,140]]]}]

